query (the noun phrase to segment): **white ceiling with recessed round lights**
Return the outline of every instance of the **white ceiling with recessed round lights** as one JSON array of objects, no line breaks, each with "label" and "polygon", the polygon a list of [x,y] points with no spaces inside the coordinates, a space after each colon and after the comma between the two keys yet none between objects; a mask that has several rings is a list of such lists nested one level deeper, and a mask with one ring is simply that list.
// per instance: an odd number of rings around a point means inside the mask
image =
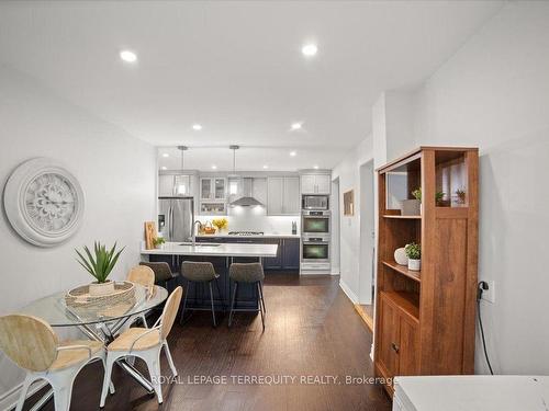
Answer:
[{"label": "white ceiling with recessed round lights", "polygon": [[[425,80],[501,7],[2,2],[0,60],[135,137],[191,146],[189,168],[231,169],[229,144],[243,146],[246,170],[332,168],[369,134],[381,91]],[[305,42],[318,45],[315,57],[302,56]],[[124,48],[136,65],[120,60]],[[290,132],[293,122],[303,129]]]}]

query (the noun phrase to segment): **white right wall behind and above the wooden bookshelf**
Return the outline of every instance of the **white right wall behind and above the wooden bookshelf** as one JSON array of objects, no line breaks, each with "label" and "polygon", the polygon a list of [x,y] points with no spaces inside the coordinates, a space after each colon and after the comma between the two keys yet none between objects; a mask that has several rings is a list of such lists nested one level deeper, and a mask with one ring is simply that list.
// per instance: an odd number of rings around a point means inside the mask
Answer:
[{"label": "white right wall behind and above the wooden bookshelf", "polygon": [[549,3],[507,3],[416,110],[418,144],[480,147],[479,275],[495,281],[482,315],[496,372],[549,374]]}]

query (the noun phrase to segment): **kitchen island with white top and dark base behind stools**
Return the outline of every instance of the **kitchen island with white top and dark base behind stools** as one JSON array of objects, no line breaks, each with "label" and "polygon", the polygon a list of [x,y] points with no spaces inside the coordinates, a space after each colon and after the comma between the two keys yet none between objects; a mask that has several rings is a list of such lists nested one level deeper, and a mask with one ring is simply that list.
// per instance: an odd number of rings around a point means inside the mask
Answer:
[{"label": "kitchen island with white top and dark base behind stools", "polygon": [[[233,262],[261,262],[264,258],[274,258],[278,253],[277,244],[255,243],[179,243],[168,242],[161,249],[146,250],[142,246],[142,258],[144,261],[166,262],[173,273],[179,273],[183,261],[211,262],[217,278],[220,290],[214,287],[214,306],[216,310],[228,310],[234,285],[228,278],[228,267]],[[178,277],[179,284],[183,286],[183,293],[188,293],[187,306],[189,308],[210,308],[210,290],[208,284],[192,284],[188,286],[187,281]],[[221,294],[221,295],[219,295]],[[236,308],[257,308],[257,288],[251,284],[239,284]]]}]

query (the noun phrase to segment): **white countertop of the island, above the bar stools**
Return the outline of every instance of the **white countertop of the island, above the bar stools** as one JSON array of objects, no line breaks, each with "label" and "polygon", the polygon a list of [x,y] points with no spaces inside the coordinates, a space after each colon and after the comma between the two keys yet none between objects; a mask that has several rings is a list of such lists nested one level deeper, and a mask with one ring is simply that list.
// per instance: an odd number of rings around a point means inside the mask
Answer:
[{"label": "white countertop of the island, above the bar stools", "polygon": [[277,244],[238,244],[238,243],[191,243],[167,242],[161,249],[146,250],[142,246],[141,253],[146,255],[203,255],[203,256],[277,256]]}]

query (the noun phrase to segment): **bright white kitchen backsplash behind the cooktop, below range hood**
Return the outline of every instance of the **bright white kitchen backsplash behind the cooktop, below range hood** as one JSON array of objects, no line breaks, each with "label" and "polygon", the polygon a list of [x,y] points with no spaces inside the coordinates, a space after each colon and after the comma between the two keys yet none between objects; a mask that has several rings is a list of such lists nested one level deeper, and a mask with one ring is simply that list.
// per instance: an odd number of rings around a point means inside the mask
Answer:
[{"label": "bright white kitchen backsplash behind the cooktop, below range hood", "polygon": [[[301,216],[267,216],[262,207],[238,207],[229,208],[229,231],[264,231],[266,235],[291,235],[292,221],[298,225],[298,233],[301,230]],[[197,216],[201,222],[211,221],[222,216]]]}]

